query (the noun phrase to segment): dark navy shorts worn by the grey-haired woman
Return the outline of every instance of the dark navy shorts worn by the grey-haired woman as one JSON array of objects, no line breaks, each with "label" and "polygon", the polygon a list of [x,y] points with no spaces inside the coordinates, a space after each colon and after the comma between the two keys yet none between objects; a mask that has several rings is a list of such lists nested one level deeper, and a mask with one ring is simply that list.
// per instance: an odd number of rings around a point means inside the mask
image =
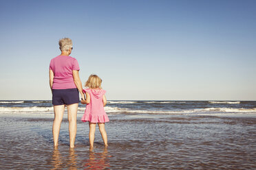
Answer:
[{"label": "dark navy shorts worn by the grey-haired woman", "polygon": [[79,93],[77,88],[52,89],[53,105],[70,105],[79,103]]}]

